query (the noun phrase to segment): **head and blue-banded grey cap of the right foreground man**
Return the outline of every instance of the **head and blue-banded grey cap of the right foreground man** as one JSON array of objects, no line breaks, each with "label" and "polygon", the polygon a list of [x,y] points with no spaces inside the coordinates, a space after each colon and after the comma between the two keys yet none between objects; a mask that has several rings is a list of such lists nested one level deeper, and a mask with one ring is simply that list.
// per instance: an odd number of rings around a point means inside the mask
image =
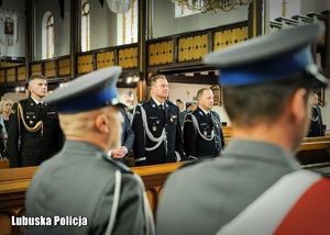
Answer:
[{"label": "head and blue-banded grey cap of the right foreground man", "polygon": [[306,134],[311,88],[327,86],[310,47],[320,33],[316,24],[284,29],[205,57],[205,64],[220,70],[224,108],[234,126],[273,125],[284,115],[293,115],[286,121],[301,119],[293,124],[300,125],[297,135]]}]

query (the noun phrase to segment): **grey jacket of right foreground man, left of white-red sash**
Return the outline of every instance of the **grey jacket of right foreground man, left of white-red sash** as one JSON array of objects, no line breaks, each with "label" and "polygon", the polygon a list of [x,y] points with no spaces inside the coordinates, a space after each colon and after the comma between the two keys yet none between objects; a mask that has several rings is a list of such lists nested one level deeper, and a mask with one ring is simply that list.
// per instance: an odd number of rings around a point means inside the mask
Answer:
[{"label": "grey jacket of right foreground man, left of white-red sash", "polygon": [[294,156],[283,148],[232,139],[221,158],[169,176],[157,209],[156,234],[216,234],[282,176],[297,169]]}]

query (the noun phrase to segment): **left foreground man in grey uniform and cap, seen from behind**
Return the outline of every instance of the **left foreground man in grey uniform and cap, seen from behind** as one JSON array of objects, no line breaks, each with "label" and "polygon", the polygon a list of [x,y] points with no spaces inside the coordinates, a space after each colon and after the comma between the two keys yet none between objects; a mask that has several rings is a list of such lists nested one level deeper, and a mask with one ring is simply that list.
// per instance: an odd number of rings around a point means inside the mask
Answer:
[{"label": "left foreground man in grey uniform and cap, seen from behind", "polygon": [[[25,234],[154,234],[141,178],[107,154],[121,145],[120,74],[118,66],[99,69],[45,99],[58,105],[66,142],[26,191]],[[51,222],[34,226],[41,220]]]}]

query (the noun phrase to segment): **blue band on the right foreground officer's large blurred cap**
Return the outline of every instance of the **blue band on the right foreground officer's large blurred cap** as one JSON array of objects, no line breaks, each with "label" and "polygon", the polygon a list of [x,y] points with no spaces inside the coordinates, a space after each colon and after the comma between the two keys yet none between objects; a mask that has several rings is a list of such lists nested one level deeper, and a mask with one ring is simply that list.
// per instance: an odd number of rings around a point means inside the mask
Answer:
[{"label": "blue band on the right foreground officer's large blurred cap", "polygon": [[222,68],[219,83],[223,86],[244,86],[262,83],[278,78],[297,75],[312,64],[309,48],[305,48],[292,55],[283,55],[271,60],[257,61],[244,66]]}]

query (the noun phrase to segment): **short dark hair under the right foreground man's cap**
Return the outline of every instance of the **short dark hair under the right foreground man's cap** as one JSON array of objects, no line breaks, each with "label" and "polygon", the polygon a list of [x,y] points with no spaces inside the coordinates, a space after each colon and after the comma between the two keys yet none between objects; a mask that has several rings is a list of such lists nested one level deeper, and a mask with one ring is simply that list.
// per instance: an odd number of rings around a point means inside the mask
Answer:
[{"label": "short dark hair under the right foreground man's cap", "polygon": [[223,87],[223,104],[229,119],[240,127],[255,126],[261,122],[272,123],[280,116],[299,88],[307,90],[307,104],[310,87],[311,80],[302,77],[276,83]]}]

